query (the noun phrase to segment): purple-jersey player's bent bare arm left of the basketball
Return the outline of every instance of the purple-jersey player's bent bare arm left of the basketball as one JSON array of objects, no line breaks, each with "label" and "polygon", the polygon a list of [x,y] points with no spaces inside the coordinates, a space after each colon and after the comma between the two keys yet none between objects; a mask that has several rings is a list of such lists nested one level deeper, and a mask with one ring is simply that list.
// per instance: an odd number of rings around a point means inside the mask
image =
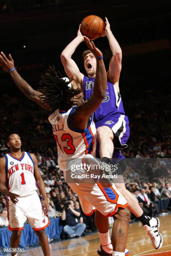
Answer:
[{"label": "purple-jersey player's bent bare arm left of the basketball", "polygon": [[79,44],[81,44],[84,41],[84,36],[82,36],[82,33],[80,31],[80,26],[77,32],[77,37],[74,38],[74,40],[72,40],[71,43],[66,46],[64,51],[62,51],[61,61],[67,76],[70,79],[73,77],[74,81],[76,81],[79,84],[82,84],[84,75],[80,73],[79,68],[77,67],[77,64],[71,58],[72,54],[74,54],[74,51],[79,46]]}]

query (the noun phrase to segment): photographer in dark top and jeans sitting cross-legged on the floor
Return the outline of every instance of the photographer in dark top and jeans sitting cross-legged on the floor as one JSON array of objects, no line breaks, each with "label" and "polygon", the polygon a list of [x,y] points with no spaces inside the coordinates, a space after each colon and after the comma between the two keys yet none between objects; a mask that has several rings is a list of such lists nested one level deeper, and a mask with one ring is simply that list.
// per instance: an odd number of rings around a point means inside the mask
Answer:
[{"label": "photographer in dark top and jeans sitting cross-legged on the floor", "polygon": [[[82,221],[80,209],[74,209],[74,202],[69,201],[69,207],[63,208],[61,219],[65,220],[66,225],[64,226],[64,232],[69,235],[70,238],[75,236],[81,236],[84,232],[86,225],[80,223]],[[78,206],[77,206],[78,207]]]}]

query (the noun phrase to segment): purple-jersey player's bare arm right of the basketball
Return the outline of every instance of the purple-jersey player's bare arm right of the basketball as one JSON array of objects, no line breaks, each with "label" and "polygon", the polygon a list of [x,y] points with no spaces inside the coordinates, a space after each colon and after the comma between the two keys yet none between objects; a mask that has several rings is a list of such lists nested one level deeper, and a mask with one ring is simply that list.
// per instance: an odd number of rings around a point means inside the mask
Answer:
[{"label": "purple-jersey player's bare arm right of the basketball", "polygon": [[109,64],[109,71],[107,73],[108,77],[110,78],[110,81],[115,84],[119,81],[120,77],[120,71],[122,68],[122,50],[120,48],[120,45],[118,44],[115,36],[113,36],[112,31],[110,30],[110,23],[106,19],[106,27],[105,31],[102,36],[107,36],[107,39],[110,44],[110,49],[112,51],[112,59],[110,60]]}]

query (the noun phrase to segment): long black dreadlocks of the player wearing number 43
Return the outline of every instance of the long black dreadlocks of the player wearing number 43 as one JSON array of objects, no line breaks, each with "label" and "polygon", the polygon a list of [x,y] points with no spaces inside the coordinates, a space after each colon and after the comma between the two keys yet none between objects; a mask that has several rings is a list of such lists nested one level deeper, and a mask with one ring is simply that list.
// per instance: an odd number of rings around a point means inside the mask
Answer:
[{"label": "long black dreadlocks of the player wearing number 43", "polygon": [[77,100],[73,100],[73,97],[81,92],[80,87],[77,87],[77,89],[68,87],[71,81],[72,79],[66,82],[62,79],[61,74],[56,72],[54,66],[49,67],[46,73],[41,75],[39,82],[41,87],[38,91],[41,92],[42,95],[39,95],[39,98],[48,107],[68,110],[72,105],[79,103]]}]

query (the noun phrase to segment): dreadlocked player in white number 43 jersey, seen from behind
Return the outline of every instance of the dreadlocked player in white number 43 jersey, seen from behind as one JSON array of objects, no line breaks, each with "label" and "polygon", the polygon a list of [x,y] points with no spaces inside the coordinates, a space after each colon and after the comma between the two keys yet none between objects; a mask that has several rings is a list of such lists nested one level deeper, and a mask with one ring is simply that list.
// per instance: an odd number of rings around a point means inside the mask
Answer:
[{"label": "dreadlocked player in white number 43 jersey, seen from behind", "polygon": [[[93,52],[93,56],[96,57],[98,61],[98,75],[96,77],[96,81],[94,82],[94,92],[89,100],[84,102],[81,102],[83,97],[81,89],[78,86],[79,84],[76,84],[74,81],[71,82],[72,87],[69,90],[69,82],[60,79],[55,71],[52,72],[52,74],[49,72],[48,74],[45,74],[42,82],[44,87],[42,90],[40,87],[40,92],[33,90],[33,88],[24,79],[22,79],[15,70],[11,55],[9,55],[8,60],[3,52],[0,53],[0,67],[2,67],[6,72],[10,73],[19,89],[29,99],[35,101],[42,108],[47,110],[53,110],[55,108],[55,110],[51,111],[48,118],[53,127],[54,125],[56,125],[56,127],[58,127],[60,124],[61,127],[64,125],[64,130],[61,128],[54,129],[53,131],[54,136],[56,136],[58,146],[58,163],[60,168],[64,171],[64,174],[66,172],[66,168],[63,166],[63,164],[66,161],[69,161],[71,157],[78,156],[78,154],[80,158],[84,157],[84,155],[87,154],[86,151],[89,150],[89,147],[86,149],[87,144],[92,145],[92,152],[95,154],[96,129],[90,114],[92,114],[99,107],[103,97],[105,96],[107,87],[107,74],[105,65],[103,63],[102,53],[94,46],[93,43],[90,43],[88,38],[84,38],[87,46]],[[73,85],[77,89],[74,89]],[[40,96],[42,96],[42,100]],[[89,129],[91,126],[91,134],[93,134],[93,136],[90,136],[90,138],[92,141],[85,143],[82,133],[89,135]],[[66,139],[68,140],[66,141]],[[107,191],[105,191],[105,189],[103,189],[98,182],[93,185],[87,182],[80,184],[71,183],[69,186],[79,196],[79,200],[85,214],[91,215],[94,210],[96,210],[95,224],[101,234],[101,243],[107,245],[105,248],[108,252],[110,252],[107,253],[107,255],[128,255],[129,251],[127,250],[125,253],[125,246],[128,235],[130,212],[127,209],[125,198],[120,194],[120,192],[115,191],[115,185],[112,184],[112,187],[107,189]],[[107,200],[107,198],[110,198],[110,200]],[[119,210],[117,210],[118,207]],[[111,244],[107,217],[114,214],[115,223],[112,228]],[[100,246],[100,250],[101,253],[103,253],[102,246]]]}]

